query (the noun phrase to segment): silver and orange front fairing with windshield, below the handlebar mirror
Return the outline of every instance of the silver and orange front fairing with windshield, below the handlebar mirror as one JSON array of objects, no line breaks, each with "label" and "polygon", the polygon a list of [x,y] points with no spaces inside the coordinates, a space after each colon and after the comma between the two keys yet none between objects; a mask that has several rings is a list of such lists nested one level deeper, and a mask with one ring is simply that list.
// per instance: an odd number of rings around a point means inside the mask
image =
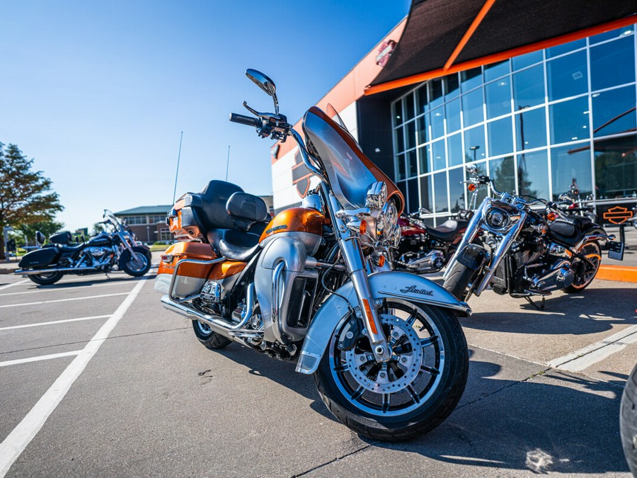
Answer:
[{"label": "silver and orange front fairing with windshield, below the handlebar mirror", "polygon": [[365,207],[369,186],[384,181],[388,197],[394,197],[398,211],[402,211],[401,192],[378,166],[369,161],[338,114],[333,113],[336,121],[313,106],[305,113],[303,131],[310,152],[318,157],[327,173],[336,199],[345,209]]}]

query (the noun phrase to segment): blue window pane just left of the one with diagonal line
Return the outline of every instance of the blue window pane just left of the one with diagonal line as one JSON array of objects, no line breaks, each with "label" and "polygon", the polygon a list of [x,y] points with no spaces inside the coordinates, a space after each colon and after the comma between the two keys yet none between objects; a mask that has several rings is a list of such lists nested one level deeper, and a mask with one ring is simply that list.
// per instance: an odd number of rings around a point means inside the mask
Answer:
[{"label": "blue window pane just left of the one with diagonal line", "polygon": [[549,106],[551,144],[589,137],[588,96]]}]

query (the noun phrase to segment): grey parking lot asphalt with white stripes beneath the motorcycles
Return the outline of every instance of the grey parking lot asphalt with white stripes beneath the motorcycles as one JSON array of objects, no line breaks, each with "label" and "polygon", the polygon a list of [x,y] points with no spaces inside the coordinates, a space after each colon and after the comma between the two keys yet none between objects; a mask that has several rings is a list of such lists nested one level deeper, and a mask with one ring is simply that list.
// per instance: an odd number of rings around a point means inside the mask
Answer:
[{"label": "grey parking lot asphalt with white stripes beneath the motorcycles", "polygon": [[153,278],[0,275],[0,477],[630,476],[619,402],[637,362],[636,284],[595,280],[543,311],[472,297],[459,406],[389,444],[335,421],[293,363],[208,351]]}]

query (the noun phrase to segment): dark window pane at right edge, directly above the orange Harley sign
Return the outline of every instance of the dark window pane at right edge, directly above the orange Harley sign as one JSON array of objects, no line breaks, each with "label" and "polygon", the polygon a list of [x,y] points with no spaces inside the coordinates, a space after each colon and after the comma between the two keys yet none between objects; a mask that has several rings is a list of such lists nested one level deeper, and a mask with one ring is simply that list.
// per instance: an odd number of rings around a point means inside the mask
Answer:
[{"label": "dark window pane at right edge, directly above the orange Harley sign", "polygon": [[595,141],[597,199],[637,196],[637,137]]}]

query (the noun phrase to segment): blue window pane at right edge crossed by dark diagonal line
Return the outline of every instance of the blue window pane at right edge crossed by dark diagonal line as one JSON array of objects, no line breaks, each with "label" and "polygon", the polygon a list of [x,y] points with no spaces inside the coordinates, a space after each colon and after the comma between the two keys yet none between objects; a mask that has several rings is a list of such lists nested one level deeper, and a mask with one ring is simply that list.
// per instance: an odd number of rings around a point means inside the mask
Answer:
[{"label": "blue window pane at right edge crossed by dark diagonal line", "polygon": [[595,137],[635,130],[635,87],[593,93],[592,113]]}]

